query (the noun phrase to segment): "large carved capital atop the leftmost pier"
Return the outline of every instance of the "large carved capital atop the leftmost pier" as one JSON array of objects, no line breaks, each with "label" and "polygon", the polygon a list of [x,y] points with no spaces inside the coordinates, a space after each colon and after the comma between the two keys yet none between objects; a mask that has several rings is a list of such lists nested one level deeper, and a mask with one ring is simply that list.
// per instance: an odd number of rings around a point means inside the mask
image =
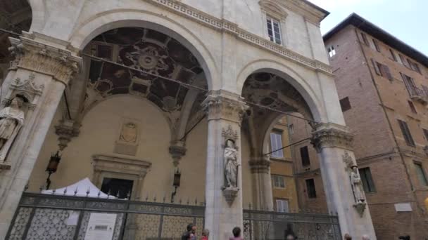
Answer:
[{"label": "large carved capital atop the leftmost pier", "polygon": [[82,65],[82,58],[72,55],[70,51],[42,44],[21,36],[11,40],[11,69],[23,68],[33,72],[50,75],[53,79],[67,85]]}]

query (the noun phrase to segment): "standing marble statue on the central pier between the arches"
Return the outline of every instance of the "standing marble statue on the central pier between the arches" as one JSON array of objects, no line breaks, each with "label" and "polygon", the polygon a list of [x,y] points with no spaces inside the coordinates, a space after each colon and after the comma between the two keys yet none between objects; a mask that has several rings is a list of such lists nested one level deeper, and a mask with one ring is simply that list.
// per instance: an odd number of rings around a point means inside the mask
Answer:
[{"label": "standing marble statue on the central pier between the arches", "polygon": [[238,154],[232,140],[226,140],[225,153],[225,187],[237,187]]}]

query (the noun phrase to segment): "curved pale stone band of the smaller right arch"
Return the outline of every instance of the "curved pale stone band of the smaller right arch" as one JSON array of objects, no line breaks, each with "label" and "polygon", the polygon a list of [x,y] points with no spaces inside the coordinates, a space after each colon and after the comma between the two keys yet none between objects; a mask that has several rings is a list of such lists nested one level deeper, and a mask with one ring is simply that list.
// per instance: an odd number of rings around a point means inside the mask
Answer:
[{"label": "curved pale stone band of the smaller right arch", "polygon": [[314,120],[320,122],[322,119],[325,119],[325,114],[322,111],[322,102],[318,100],[313,88],[293,69],[274,60],[262,59],[248,63],[238,74],[237,93],[242,94],[248,76],[257,72],[267,72],[289,80],[288,83],[303,96]]}]

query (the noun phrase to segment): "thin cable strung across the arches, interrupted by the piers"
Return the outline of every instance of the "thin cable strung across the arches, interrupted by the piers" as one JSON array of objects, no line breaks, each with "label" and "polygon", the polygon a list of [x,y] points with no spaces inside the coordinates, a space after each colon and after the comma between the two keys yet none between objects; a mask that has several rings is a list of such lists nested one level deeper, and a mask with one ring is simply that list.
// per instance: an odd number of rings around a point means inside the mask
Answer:
[{"label": "thin cable strung across the arches, interrupted by the piers", "polygon": [[[1,29],[1,28],[0,28],[0,31],[1,31],[1,32],[7,32],[7,33],[10,33],[10,34],[15,34],[15,35],[21,36],[21,34],[17,34],[17,33],[15,33],[15,32],[11,32],[11,31],[8,31],[8,30],[6,30],[6,29]],[[175,79],[171,79],[171,78],[168,78],[168,77],[165,77],[165,76],[160,76],[160,75],[158,75],[158,74],[153,74],[153,73],[151,73],[151,72],[146,72],[146,71],[141,70],[141,69],[137,69],[137,68],[130,67],[130,66],[127,66],[127,65],[123,65],[123,64],[121,64],[121,63],[119,63],[119,62],[113,62],[113,61],[108,60],[108,59],[105,59],[105,58],[99,58],[99,57],[97,57],[97,56],[95,56],[95,55],[89,55],[89,54],[87,54],[87,53],[83,53],[83,55],[84,55],[84,56],[86,56],[86,57],[88,57],[88,58],[92,58],[92,59],[94,59],[94,60],[99,60],[99,61],[103,61],[103,62],[108,62],[108,63],[111,63],[111,64],[113,64],[113,65],[118,65],[118,66],[120,66],[120,67],[125,67],[125,68],[127,68],[127,69],[131,69],[131,70],[136,71],[136,72],[141,72],[141,73],[143,73],[143,74],[148,74],[148,75],[151,75],[151,76],[156,76],[156,77],[158,77],[159,79],[163,79],[163,80],[166,80],[166,81],[171,81],[171,82],[174,82],[174,83],[176,83],[176,84],[180,84],[180,85],[182,85],[182,86],[186,86],[187,88],[195,88],[195,89],[197,89],[197,90],[199,90],[199,91],[203,91],[203,92],[205,92],[205,93],[208,93],[208,92],[209,92],[209,91],[208,91],[208,89],[200,88],[200,87],[198,87],[198,86],[194,86],[194,85],[191,85],[191,84],[185,84],[185,83],[183,83],[182,81],[177,81],[177,80],[175,80]],[[249,101],[247,101],[247,100],[243,100],[243,102],[245,102],[245,103],[246,103],[246,104],[248,104],[248,105],[252,105],[252,106],[260,107],[260,108],[263,108],[263,109],[267,109],[267,110],[272,111],[272,112],[277,112],[277,113],[284,114],[284,115],[287,115],[287,116],[292,116],[292,117],[294,117],[294,118],[296,118],[296,119],[303,119],[303,120],[305,120],[305,121],[308,121],[310,124],[317,124],[317,121],[313,121],[312,119],[306,119],[306,118],[301,117],[301,116],[295,116],[294,114],[289,114],[288,112],[282,112],[281,110],[274,109],[274,108],[272,108],[272,107],[266,107],[266,106],[264,106],[264,105],[260,105],[260,104],[258,104],[258,103],[256,103],[256,102],[249,102]]]}]

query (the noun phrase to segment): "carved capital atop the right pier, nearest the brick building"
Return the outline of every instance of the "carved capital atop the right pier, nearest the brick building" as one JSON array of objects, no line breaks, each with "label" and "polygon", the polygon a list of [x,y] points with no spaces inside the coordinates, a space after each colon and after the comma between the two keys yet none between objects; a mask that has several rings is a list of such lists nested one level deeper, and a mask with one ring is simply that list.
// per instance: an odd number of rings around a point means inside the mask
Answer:
[{"label": "carved capital atop the right pier, nearest the brick building", "polygon": [[341,147],[352,150],[353,135],[346,126],[337,124],[317,124],[310,143],[317,152],[325,147]]}]

